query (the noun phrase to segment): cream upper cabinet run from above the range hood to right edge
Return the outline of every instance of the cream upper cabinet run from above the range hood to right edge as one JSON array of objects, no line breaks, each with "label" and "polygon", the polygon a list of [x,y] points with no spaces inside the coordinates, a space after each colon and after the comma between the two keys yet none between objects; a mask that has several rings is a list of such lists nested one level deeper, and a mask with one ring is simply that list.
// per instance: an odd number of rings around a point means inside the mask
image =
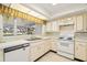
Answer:
[{"label": "cream upper cabinet run from above the range hood to right edge", "polygon": [[74,24],[75,32],[87,31],[87,13],[58,19],[58,25]]}]

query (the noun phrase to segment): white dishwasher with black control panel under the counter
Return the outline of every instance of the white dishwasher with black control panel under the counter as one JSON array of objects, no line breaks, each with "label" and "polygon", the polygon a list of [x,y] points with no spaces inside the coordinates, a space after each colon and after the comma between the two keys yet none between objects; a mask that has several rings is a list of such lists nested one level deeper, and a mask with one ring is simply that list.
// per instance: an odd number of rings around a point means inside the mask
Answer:
[{"label": "white dishwasher with black control panel under the counter", "polygon": [[3,51],[4,62],[30,62],[29,43],[6,47]]}]

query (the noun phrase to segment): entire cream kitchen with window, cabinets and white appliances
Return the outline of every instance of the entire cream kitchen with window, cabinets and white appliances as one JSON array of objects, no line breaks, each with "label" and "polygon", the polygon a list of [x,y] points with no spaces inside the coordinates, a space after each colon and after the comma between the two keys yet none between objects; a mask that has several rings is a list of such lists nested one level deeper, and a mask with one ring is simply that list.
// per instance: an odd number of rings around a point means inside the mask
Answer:
[{"label": "entire cream kitchen with window, cabinets and white appliances", "polygon": [[0,3],[0,62],[86,62],[87,3]]}]

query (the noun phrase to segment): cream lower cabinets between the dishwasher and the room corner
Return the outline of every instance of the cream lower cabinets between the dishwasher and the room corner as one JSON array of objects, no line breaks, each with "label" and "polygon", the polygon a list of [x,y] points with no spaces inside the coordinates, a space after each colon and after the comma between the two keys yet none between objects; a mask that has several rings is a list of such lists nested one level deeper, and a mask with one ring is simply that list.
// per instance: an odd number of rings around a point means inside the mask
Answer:
[{"label": "cream lower cabinets between the dishwasher and the room corner", "polygon": [[50,43],[47,42],[47,40],[43,40],[40,42],[32,43],[30,48],[31,62],[35,61],[36,58],[45,54],[47,51],[50,51]]}]

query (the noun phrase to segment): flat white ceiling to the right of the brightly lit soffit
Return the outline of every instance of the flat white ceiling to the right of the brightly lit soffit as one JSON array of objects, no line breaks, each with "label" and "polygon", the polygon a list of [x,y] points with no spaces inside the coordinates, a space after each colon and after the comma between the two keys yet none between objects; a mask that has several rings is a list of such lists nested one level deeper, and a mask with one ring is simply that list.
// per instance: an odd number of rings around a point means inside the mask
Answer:
[{"label": "flat white ceiling to the right of the brightly lit soffit", "polygon": [[55,19],[59,15],[70,13],[74,11],[84,10],[87,8],[86,3],[21,3],[22,6],[36,11],[37,13],[47,18],[47,20]]}]

